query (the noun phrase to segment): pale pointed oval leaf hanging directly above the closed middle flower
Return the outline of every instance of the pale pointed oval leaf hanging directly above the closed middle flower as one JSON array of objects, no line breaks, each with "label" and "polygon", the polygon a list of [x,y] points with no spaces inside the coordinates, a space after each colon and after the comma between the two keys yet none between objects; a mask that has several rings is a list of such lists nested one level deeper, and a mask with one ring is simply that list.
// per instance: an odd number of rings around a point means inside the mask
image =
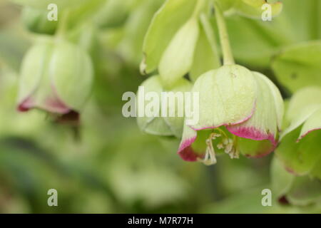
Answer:
[{"label": "pale pointed oval leaf hanging directly above the closed middle flower", "polygon": [[190,71],[198,33],[198,20],[192,18],[178,30],[173,40],[170,41],[158,67],[164,86],[170,88]]}]

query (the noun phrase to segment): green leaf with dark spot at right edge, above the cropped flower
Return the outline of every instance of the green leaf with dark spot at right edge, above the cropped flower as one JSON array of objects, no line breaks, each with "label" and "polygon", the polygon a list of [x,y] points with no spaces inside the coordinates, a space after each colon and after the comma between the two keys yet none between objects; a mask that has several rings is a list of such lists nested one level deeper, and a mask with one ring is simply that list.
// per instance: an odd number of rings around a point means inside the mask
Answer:
[{"label": "green leaf with dark spot at right edge, above the cropped flower", "polygon": [[310,41],[286,48],[272,61],[279,81],[291,91],[321,85],[321,41]]}]

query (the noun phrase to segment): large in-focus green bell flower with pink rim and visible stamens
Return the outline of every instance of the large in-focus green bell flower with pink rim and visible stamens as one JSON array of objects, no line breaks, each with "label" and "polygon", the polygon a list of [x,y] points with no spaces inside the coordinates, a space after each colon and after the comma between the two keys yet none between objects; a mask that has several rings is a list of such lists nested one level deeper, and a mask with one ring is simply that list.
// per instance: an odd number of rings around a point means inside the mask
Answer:
[{"label": "large in-focus green bell flower with pink rim and visible stamens", "polygon": [[187,161],[215,164],[215,153],[260,157],[275,150],[283,102],[261,73],[226,65],[198,78],[199,122],[185,125],[178,154]]}]

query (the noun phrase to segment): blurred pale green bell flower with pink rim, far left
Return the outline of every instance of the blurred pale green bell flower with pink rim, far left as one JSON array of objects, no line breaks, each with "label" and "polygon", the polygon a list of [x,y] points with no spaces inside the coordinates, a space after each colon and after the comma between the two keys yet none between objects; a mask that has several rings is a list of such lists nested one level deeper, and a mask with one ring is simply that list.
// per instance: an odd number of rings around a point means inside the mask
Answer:
[{"label": "blurred pale green bell flower with pink rim, far left", "polygon": [[43,39],[26,53],[19,80],[19,111],[78,113],[91,92],[93,66],[73,43]]}]

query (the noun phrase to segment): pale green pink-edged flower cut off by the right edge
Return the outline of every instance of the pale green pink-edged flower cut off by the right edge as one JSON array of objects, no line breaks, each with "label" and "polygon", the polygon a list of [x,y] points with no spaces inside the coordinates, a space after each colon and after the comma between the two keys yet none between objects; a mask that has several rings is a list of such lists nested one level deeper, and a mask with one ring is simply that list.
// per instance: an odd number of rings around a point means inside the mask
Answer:
[{"label": "pale green pink-edged flower cut off by the right edge", "polygon": [[321,88],[302,88],[295,93],[285,116],[290,125],[281,134],[277,158],[287,171],[321,179]]}]

